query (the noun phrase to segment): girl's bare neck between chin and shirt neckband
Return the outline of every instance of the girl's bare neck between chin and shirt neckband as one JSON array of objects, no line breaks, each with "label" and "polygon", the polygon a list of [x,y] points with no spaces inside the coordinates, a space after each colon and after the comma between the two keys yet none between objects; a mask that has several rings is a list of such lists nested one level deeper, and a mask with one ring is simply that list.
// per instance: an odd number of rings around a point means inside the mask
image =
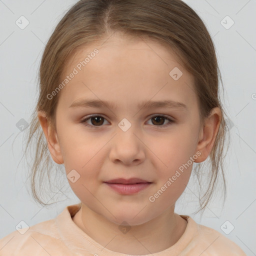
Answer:
[{"label": "girl's bare neck between chin and shirt neckband", "polygon": [[109,250],[125,254],[150,254],[172,246],[183,234],[187,221],[173,210],[174,205],[143,224],[120,226],[82,203],[73,221],[88,236]]}]

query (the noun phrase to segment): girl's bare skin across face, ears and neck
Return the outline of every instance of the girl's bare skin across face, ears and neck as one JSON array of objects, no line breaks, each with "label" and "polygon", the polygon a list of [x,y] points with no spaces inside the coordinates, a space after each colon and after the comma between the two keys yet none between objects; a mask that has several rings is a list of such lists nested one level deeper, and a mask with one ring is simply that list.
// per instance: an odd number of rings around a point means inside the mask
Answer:
[{"label": "girl's bare skin across face, ears and neck", "polygon": [[[150,46],[150,47],[149,47]],[[98,48],[90,60],[59,92],[56,129],[38,111],[52,159],[64,164],[66,174],[75,169],[80,178],[72,190],[81,200],[74,223],[105,248],[126,254],[150,254],[164,250],[182,236],[187,221],[174,212],[175,202],[188,183],[192,164],[154,202],[148,200],[189,157],[194,162],[209,155],[221,120],[215,107],[199,126],[199,106],[193,76],[177,61],[174,52],[155,42],[112,35],[102,46],[86,45],[69,59],[63,78],[84,56]],[[174,80],[169,72],[183,74]],[[114,102],[116,108],[69,107],[79,99]],[[138,108],[145,100],[174,100],[186,108]],[[54,99],[51,99],[54,100]],[[97,124],[84,117],[103,117]],[[165,115],[160,124],[153,117]],[[131,124],[123,131],[118,123]],[[165,125],[165,127],[163,127]],[[95,128],[93,128],[93,126]],[[119,194],[103,181],[138,177],[152,183],[131,195]],[[127,233],[119,230],[126,221]]]}]

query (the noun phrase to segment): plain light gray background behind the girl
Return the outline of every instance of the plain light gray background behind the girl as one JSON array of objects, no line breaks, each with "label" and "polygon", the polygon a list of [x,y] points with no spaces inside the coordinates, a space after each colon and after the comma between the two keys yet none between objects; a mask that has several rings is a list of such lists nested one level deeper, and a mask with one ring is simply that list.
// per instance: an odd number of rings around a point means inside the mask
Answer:
[{"label": "plain light gray background behind the girl", "polygon": [[[29,188],[29,181],[25,182],[28,166],[18,165],[25,141],[22,141],[23,132],[18,134],[20,130],[16,126],[21,118],[29,121],[45,43],[75,2],[0,0],[0,238],[14,231],[21,220],[31,226],[54,218],[66,205],[79,201],[71,190],[69,199],[62,197],[62,201],[49,207],[42,208],[33,201],[24,185]],[[219,195],[202,216],[193,215],[198,197],[191,179],[175,211],[223,233],[247,255],[256,255],[256,94],[253,94],[256,93],[256,0],[185,2],[203,19],[213,38],[225,90],[224,106],[233,126],[230,126],[231,144],[226,156],[224,208]],[[29,21],[25,29],[15,24],[21,15]],[[234,21],[229,29],[221,24],[226,15]],[[226,220],[234,226],[229,234],[221,229]]]}]

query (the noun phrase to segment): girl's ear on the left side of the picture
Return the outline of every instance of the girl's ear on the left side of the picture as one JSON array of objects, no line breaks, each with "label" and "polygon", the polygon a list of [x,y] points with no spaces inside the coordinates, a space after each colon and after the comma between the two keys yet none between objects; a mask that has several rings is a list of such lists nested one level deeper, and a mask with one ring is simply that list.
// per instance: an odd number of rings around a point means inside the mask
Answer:
[{"label": "girl's ear on the left side of the picture", "polygon": [[64,161],[60,152],[60,145],[58,142],[56,130],[50,124],[44,111],[37,111],[37,117],[47,140],[48,149],[53,161],[58,164],[62,164]]}]

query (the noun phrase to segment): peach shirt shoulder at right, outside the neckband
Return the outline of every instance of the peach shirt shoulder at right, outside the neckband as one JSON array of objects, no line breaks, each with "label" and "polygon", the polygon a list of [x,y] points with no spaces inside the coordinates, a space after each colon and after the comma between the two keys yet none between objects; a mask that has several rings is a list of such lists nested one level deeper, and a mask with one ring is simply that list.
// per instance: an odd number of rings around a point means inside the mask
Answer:
[{"label": "peach shirt shoulder at right, outside the neckband", "polygon": [[[190,218],[190,221],[193,219]],[[194,222],[195,223],[195,222]],[[232,240],[217,230],[196,223],[196,232],[191,244],[203,255],[246,256],[244,251]]]}]

